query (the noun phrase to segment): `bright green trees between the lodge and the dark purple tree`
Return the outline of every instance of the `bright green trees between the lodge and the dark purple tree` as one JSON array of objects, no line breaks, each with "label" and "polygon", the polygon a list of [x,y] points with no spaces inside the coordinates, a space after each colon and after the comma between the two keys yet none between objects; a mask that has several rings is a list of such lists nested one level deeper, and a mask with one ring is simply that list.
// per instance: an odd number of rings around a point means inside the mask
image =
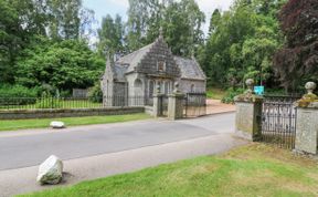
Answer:
[{"label": "bright green trees between the lodge and the dark purple tree", "polygon": [[198,60],[209,85],[244,87],[247,77],[273,85],[272,59],[283,43],[276,13],[284,0],[236,0],[230,11],[215,10],[210,35]]}]

